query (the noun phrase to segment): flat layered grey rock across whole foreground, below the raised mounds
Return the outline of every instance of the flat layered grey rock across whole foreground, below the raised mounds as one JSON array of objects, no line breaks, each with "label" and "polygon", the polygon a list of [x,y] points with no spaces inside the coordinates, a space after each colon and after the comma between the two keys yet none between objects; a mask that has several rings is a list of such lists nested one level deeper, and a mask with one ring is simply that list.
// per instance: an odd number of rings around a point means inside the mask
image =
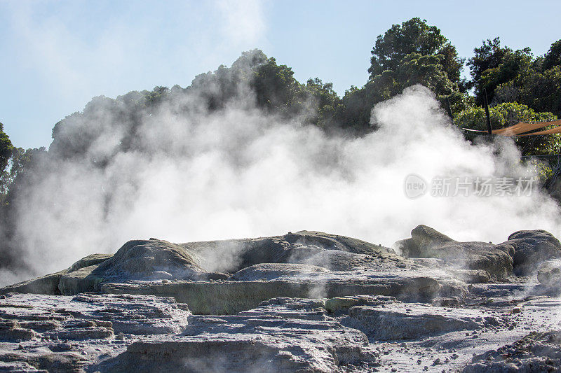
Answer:
[{"label": "flat layered grey rock across whole foreground, below the raised mounds", "polygon": [[[376,295],[277,297],[226,316],[193,315],[154,296],[13,294],[1,301],[3,328],[33,332],[0,339],[0,369],[22,372],[458,372],[470,365],[481,369],[466,372],[509,372],[482,366],[503,364],[502,346],[561,321],[561,299],[551,297],[456,307]],[[382,324],[365,323],[372,310],[379,320],[387,316]],[[534,339],[531,348],[516,347],[518,358],[548,367],[558,346]]]}]

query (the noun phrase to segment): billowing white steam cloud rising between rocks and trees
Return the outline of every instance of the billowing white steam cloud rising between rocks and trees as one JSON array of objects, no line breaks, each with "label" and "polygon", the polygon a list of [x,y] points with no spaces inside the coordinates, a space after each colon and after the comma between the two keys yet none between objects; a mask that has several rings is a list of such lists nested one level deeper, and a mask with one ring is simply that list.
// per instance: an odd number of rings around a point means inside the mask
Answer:
[{"label": "billowing white steam cloud rising between rocks and trees", "polygon": [[[250,93],[241,96],[224,110],[185,117],[176,106],[201,101],[180,95],[142,122],[137,140],[150,155],[116,153],[104,169],[78,161],[45,167],[18,202],[17,239],[36,274],[148,237],[185,242],[320,230],[391,246],[419,224],[468,241],[496,243],[522,229],[559,237],[557,205],[539,192],[405,196],[412,173],[428,181],[525,174],[512,143],[470,145],[424,87],[375,106],[379,129],[358,139],[265,114]],[[76,136],[111,115],[102,105],[95,110],[99,122],[79,123]],[[102,134],[90,158],[118,151],[123,130]]]}]

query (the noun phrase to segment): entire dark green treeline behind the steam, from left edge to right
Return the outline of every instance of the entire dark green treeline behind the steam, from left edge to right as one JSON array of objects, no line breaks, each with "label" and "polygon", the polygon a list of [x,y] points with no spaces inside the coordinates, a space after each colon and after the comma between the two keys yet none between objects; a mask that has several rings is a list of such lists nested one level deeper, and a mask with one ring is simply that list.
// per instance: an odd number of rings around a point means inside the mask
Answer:
[{"label": "entire dark green treeline behind the steam, from left edge to right", "polygon": [[[467,63],[471,80],[465,81],[461,79],[464,59],[458,56],[454,45],[438,27],[414,17],[377,36],[369,79],[362,87],[349,88],[343,97],[334,92],[331,83],[319,78],[300,83],[289,66],[278,64],[261,50],[249,50],[230,67],[219,66],[196,76],[188,87],[158,86],[150,91],[128,92],[116,99],[93,98],[83,111],[68,115],[53,127],[48,152],[14,148],[0,124],[4,195],[8,185],[13,185],[22,174],[25,164],[38,154],[86,158],[95,167],[105,167],[111,154],[119,150],[170,151],[165,144],[148,150],[138,135],[139,126],[163,108],[182,116],[201,107],[220,111],[229,104],[243,104],[241,98],[250,97],[255,106],[273,115],[299,115],[327,132],[360,135],[376,129],[376,123],[370,123],[370,111],[375,104],[406,87],[421,84],[435,93],[442,108],[461,127],[482,126],[485,92],[494,127],[508,125],[512,120],[550,120],[561,115],[561,41],[553,43],[539,57],[534,57],[529,48],[513,50],[503,46],[499,38],[483,41],[473,52]],[[473,88],[473,96],[469,88]],[[184,94],[196,99],[180,99]],[[548,139],[549,142],[534,142],[533,150],[522,140],[519,145],[529,153],[558,151],[553,143],[557,138]],[[97,151],[107,146],[113,147],[114,153]]]}]

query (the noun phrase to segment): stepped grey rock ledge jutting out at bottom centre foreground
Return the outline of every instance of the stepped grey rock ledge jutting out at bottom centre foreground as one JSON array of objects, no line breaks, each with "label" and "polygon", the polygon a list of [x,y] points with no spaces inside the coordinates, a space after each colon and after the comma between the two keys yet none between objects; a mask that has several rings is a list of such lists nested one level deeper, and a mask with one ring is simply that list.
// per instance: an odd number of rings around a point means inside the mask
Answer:
[{"label": "stepped grey rock ledge jutting out at bottom centre foreground", "polygon": [[184,372],[349,372],[377,366],[366,336],[327,320],[321,304],[277,298],[236,316],[192,316],[182,335],[134,342],[100,367],[113,372],[152,371],[154,365]]}]

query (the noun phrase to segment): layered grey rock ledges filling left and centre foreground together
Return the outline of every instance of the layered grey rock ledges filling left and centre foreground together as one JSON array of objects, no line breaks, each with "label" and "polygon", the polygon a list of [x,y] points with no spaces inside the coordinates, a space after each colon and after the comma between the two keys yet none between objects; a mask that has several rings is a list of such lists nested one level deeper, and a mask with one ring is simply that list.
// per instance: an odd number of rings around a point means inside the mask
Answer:
[{"label": "layered grey rock ledges filling left and centre foreground together", "polygon": [[13,294],[0,304],[0,369],[24,372],[360,371],[377,353],[324,302],[276,298],[235,316],[193,316],[169,298]]}]

